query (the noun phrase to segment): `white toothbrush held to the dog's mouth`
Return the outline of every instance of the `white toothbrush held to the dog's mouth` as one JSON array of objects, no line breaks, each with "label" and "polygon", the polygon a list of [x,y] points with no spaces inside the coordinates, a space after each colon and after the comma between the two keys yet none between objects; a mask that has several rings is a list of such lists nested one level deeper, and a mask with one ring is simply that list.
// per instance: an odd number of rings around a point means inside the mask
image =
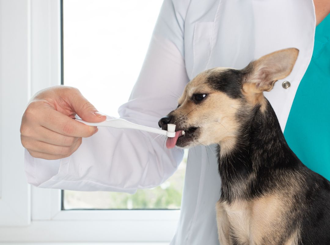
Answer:
[{"label": "white toothbrush held to the dog's mouth", "polygon": [[89,126],[112,127],[112,128],[118,128],[118,129],[123,129],[123,128],[139,129],[139,130],[147,131],[150,133],[165,135],[165,136],[171,137],[171,138],[175,137],[175,127],[176,127],[175,124],[167,124],[167,131],[166,131],[166,130],[162,130],[162,129],[150,128],[147,126],[142,126],[139,124],[131,123],[131,122],[126,121],[125,119],[121,119],[121,118],[105,120],[105,121],[99,122],[99,123],[85,122],[82,119],[76,119],[76,120],[79,122],[82,122],[86,125],[89,125]]}]

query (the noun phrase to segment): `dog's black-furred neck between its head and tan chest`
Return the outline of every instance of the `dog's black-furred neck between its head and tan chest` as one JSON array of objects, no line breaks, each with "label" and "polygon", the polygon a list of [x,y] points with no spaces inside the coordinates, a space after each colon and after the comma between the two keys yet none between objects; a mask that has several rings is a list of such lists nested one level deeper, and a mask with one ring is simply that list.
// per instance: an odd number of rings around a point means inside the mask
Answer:
[{"label": "dog's black-furred neck between its head and tan chest", "polygon": [[229,203],[271,191],[273,178],[301,164],[287,145],[268,101],[266,110],[255,106],[249,117],[233,148],[221,149],[223,143],[218,147],[221,198]]}]

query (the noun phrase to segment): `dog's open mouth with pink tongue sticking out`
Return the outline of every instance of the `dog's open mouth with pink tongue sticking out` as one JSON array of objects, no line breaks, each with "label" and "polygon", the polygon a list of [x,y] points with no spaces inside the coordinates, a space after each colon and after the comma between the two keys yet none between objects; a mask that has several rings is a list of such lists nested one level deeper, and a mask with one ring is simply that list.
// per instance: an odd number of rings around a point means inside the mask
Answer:
[{"label": "dog's open mouth with pink tongue sticking out", "polygon": [[[182,135],[182,131],[184,131],[184,135]],[[190,127],[188,129],[177,129],[175,132],[175,137],[167,138],[166,147],[171,149],[176,145],[179,147],[185,147],[189,145],[192,141],[197,139],[199,128]]]}]

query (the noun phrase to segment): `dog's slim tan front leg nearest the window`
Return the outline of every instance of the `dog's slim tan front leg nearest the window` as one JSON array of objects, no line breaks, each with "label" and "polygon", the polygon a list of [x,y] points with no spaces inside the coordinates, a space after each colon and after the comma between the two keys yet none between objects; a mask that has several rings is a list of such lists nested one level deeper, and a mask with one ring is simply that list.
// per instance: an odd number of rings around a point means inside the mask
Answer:
[{"label": "dog's slim tan front leg nearest the window", "polygon": [[218,226],[218,236],[220,245],[231,245],[229,238],[229,220],[223,204],[217,201],[215,204],[216,224]]}]

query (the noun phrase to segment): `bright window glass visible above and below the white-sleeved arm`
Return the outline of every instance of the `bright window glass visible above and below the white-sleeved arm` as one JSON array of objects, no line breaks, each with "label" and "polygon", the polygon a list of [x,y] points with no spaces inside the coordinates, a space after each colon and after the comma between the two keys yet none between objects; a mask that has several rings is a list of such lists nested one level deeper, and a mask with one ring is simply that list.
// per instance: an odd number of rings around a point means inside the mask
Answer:
[{"label": "bright window glass visible above and below the white-sleeved arm", "polygon": [[[162,0],[63,0],[64,85],[118,117],[139,75]],[[157,125],[155,125],[157,127]],[[186,157],[162,185],[136,194],[65,190],[64,209],[180,209]]]}]

